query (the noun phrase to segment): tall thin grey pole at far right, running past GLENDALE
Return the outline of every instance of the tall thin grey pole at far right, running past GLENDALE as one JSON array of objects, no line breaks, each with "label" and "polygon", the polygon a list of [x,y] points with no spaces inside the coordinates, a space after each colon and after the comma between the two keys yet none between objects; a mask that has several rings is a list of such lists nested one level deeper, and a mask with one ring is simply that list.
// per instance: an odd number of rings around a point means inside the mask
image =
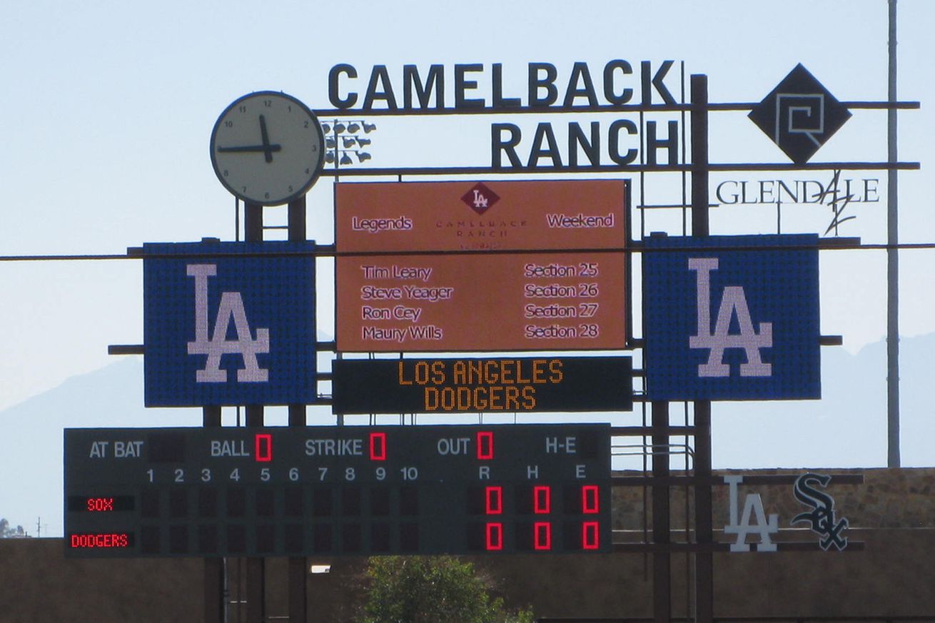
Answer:
[{"label": "tall thin grey pole at far right, running past GLENDALE", "polygon": [[[896,0],[889,0],[890,104],[896,97]],[[887,158],[892,165],[897,153],[896,109],[886,111]],[[899,457],[899,201],[898,171],[886,171],[886,466],[898,468]]]}]

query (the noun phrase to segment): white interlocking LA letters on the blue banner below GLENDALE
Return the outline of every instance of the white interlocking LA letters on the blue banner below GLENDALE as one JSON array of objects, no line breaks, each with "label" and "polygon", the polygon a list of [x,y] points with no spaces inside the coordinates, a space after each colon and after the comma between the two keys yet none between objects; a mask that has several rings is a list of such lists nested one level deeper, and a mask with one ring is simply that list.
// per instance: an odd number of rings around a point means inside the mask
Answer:
[{"label": "white interlocking LA letters on the blue banner below GLENDALE", "polygon": [[[688,347],[706,348],[710,353],[706,363],[698,364],[698,376],[730,376],[730,366],[724,363],[724,351],[728,348],[740,348],[747,355],[746,363],[741,364],[741,376],[771,376],[772,365],[763,363],[760,349],[772,347],[772,323],[760,323],[759,331],[755,330],[747,297],[740,285],[724,288],[712,333],[711,273],[717,267],[716,257],[688,258],[688,269],[696,272],[698,283],[698,334],[688,337]],[[734,316],[740,332],[731,334],[727,331]]]}]

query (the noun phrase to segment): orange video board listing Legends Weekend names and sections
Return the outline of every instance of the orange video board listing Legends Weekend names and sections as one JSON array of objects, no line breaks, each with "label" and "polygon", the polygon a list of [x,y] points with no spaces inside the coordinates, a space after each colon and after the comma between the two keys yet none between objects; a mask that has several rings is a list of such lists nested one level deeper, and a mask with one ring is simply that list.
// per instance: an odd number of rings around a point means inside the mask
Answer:
[{"label": "orange video board listing Legends Weekend names and sections", "polygon": [[624,182],[336,188],[338,351],[624,347]]}]

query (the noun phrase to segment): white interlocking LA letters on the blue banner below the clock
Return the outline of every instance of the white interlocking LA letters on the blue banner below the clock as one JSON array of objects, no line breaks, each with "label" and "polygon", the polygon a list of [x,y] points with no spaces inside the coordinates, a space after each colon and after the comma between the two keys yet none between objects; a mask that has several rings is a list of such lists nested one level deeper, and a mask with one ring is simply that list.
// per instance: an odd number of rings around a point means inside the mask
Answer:
[{"label": "white interlocking LA letters on the blue banner below the clock", "polygon": [[[221,369],[221,355],[240,355],[244,367],[237,370],[237,383],[266,383],[269,370],[260,368],[256,355],[269,353],[269,328],[257,327],[256,338],[253,338],[243,297],[239,292],[223,292],[214,320],[214,332],[209,337],[208,278],[218,274],[218,266],[189,264],[186,274],[194,277],[194,341],[188,342],[188,354],[208,355],[205,369],[195,370],[195,382],[226,383],[227,370]],[[227,340],[231,322],[234,323],[237,340]]]}]

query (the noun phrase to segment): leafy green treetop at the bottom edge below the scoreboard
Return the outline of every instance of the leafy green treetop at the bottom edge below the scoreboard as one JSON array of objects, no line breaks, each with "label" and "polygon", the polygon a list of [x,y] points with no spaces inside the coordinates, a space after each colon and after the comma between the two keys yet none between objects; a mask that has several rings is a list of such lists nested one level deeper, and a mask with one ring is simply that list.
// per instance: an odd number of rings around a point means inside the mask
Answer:
[{"label": "leafy green treetop at the bottom edge below the scoreboard", "polygon": [[376,557],[367,565],[362,623],[532,623],[508,612],[491,582],[452,557]]}]

